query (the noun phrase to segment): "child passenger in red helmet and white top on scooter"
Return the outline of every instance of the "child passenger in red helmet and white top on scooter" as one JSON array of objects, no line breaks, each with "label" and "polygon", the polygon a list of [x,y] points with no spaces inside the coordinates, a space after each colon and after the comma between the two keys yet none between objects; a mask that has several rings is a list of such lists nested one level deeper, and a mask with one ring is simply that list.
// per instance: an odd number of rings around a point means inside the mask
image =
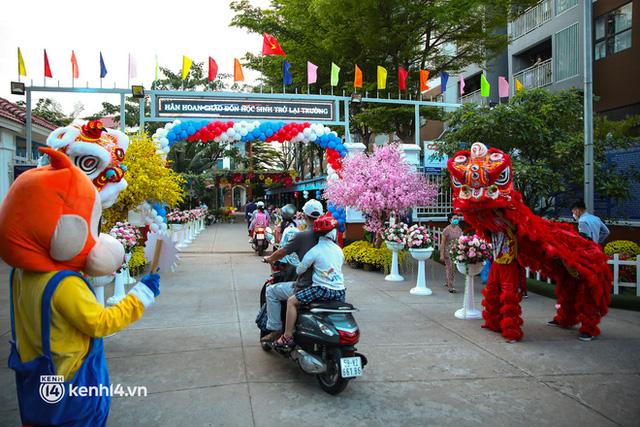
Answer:
[{"label": "child passenger in red helmet and white top on scooter", "polygon": [[293,328],[300,305],[314,301],[344,301],[344,254],[336,244],[337,225],[338,221],[330,214],[321,216],[313,223],[313,231],[320,236],[318,244],[306,253],[296,267],[296,272],[302,274],[313,266],[312,284],[297,291],[287,300],[286,328],[284,334],[274,342],[275,346],[286,347],[293,344]]}]

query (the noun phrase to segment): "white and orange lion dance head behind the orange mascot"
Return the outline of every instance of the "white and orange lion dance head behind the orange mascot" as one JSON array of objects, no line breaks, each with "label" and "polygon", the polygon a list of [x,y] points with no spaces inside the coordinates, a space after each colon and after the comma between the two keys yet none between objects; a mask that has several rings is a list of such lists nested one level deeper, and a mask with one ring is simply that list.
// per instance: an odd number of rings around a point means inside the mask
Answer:
[{"label": "white and orange lion dance head behind the orange mascot", "polygon": [[65,153],[82,170],[100,192],[102,207],[112,206],[118,194],[127,188],[122,164],[129,145],[124,133],[107,129],[99,120],[82,126],[61,127],[49,135],[47,145]]}]

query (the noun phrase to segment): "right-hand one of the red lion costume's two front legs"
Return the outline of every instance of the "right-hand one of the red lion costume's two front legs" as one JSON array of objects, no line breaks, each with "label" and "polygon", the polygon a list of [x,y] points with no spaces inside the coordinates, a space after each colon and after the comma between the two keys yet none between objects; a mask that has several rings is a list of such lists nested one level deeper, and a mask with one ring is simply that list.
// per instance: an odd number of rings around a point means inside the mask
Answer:
[{"label": "right-hand one of the red lion costume's two front legs", "polygon": [[508,341],[520,341],[522,339],[522,309],[519,292],[520,267],[518,263],[498,264],[500,267],[500,329],[502,336]]}]

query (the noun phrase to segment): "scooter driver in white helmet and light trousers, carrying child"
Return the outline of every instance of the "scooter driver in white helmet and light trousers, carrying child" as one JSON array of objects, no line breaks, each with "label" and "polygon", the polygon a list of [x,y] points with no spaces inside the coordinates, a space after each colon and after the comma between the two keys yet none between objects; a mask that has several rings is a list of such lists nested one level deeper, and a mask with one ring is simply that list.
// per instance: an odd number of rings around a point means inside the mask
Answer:
[{"label": "scooter driver in white helmet and light trousers, carrying child", "polygon": [[[271,255],[264,257],[264,262],[273,264],[287,255],[296,254],[298,259],[303,259],[307,252],[318,243],[318,235],[313,232],[313,222],[323,213],[322,203],[310,199],[302,207],[307,229],[293,234],[283,247]],[[298,276],[294,282],[281,282],[268,286],[267,299],[267,329],[271,331],[261,341],[271,342],[282,335],[282,319],[280,315],[282,301],[286,301],[295,291],[311,286],[312,270],[307,270]]]}]

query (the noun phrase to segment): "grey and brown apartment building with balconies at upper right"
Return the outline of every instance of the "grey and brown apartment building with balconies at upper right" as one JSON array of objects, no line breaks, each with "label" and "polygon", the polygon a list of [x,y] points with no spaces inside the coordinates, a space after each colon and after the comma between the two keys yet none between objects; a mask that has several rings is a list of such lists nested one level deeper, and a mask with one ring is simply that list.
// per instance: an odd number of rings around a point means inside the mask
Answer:
[{"label": "grey and brown apartment building with balconies at upper right", "polygon": [[[511,95],[517,79],[525,88],[563,90],[583,87],[584,1],[542,0],[524,11],[505,29],[507,48],[484,64],[468,67],[464,94],[460,78],[451,79],[447,100],[500,102],[498,76],[510,83]],[[593,2],[594,111],[612,119],[640,114],[640,0],[596,0]],[[480,75],[491,84],[491,96],[480,96]],[[504,100],[503,100],[504,101]]]}]

